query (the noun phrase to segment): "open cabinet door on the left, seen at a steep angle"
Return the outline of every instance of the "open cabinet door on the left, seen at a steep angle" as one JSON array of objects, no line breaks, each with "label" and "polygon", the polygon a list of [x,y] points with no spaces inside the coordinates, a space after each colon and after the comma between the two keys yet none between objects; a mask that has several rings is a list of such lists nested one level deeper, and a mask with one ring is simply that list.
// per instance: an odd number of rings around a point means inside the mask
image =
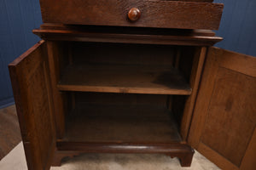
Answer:
[{"label": "open cabinet door on the left, seen at a steep angle", "polygon": [[49,169],[55,127],[46,42],[40,41],[9,65],[28,169]]}]

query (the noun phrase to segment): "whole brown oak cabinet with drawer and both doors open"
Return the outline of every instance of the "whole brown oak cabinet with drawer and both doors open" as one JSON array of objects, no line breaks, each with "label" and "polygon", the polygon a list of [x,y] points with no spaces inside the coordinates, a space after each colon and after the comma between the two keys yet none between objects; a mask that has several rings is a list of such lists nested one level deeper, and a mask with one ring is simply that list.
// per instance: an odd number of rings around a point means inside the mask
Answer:
[{"label": "whole brown oak cabinet with drawer and both doors open", "polygon": [[51,23],[33,32],[44,40],[9,65],[29,169],[90,152],[161,153],[189,167],[191,146],[220,167],[253,167],[255,59],[193,30],[218,29],[223,5],[104,2],[41,0]]}]

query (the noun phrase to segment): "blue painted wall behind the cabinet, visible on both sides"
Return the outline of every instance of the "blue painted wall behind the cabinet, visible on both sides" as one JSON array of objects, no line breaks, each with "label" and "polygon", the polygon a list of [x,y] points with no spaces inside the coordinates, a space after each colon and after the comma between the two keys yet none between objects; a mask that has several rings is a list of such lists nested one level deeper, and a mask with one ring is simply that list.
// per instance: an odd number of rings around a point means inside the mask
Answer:
[{"label": "blue painted wall behind the cabinet, visible on both sides", "polygon": [[[215,0],[215,3],[223,3]],[[216,46],[256,56],[256,1],[225,0]],[[32,29],[41,25],[39,0],[0,0],[0,108],[13,104],[7,65],[39,38]]]}]

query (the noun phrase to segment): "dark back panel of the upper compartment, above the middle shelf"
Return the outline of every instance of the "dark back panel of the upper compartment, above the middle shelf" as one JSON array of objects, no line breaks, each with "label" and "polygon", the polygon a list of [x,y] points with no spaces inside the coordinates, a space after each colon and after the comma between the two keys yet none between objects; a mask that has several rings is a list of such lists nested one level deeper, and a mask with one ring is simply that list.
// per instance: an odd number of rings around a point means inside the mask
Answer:
[{"label": "dark back panel of the upper compartment, above the middle shelf", "polygon": [[120,65],[172,65],[173,46],[73,42],[73,62]]}]

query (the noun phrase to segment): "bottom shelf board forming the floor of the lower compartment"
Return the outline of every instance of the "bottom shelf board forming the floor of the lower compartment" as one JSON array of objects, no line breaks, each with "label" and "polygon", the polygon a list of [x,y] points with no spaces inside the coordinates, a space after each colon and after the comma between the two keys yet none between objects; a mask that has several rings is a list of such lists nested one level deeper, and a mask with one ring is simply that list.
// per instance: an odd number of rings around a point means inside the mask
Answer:
[{"label": "bottom shelf board forming the floor of the lower compartment", "polygon": [[172,115],[163,106],[80,104],[67,118],[61,142],[179,144]]}]

